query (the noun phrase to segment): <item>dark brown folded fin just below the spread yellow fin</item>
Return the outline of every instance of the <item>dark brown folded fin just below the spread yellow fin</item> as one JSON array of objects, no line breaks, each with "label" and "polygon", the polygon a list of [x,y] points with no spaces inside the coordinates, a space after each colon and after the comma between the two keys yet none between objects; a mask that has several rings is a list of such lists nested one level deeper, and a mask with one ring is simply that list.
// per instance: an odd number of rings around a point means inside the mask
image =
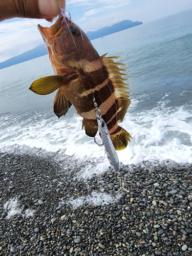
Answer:
[{"label": "dark brown folded fin just below the spread yellow fin", "polygon": [[72,105],[71,102],[66,98],[61,88],[59,88],[59,90],[57,91],[53,103],[53,111],[55,115],[58,116],[58,118],[61,116],[65,116],[70,106]]}]

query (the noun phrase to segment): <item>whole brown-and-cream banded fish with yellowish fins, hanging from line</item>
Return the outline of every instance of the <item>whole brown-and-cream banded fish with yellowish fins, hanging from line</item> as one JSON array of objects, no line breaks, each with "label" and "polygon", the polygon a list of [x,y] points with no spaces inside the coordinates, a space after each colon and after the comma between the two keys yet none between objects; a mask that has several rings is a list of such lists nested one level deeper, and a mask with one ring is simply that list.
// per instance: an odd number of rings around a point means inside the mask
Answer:
[{"label": "whole brown-and-cream banded fish with yellowish fins, hanging from line", "polygon": [[47,95],[55,90],[53,111],[58,118],[65,116],[71,105],[82,119],[82,129],[90,137],[95,137],[98,122],[93,99],[96,100],[102,118],[108,127],[115,150],[124,149],[132,136],[118,124],[122,122],[131,103],[131,85],[124,78],[127,66],[115,62],[116,57],[100,56],[91,41],[75,23],[70,14],[60,12],[51,27],[38,25],[45,41],[53,76],[35,80],[31,91]]}]

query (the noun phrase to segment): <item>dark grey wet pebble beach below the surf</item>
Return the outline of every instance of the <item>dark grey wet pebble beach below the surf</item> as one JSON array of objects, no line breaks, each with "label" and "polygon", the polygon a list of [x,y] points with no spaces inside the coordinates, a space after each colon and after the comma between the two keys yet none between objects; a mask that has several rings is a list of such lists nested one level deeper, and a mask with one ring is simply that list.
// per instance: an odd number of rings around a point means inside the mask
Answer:
[{"label": "dark grey wet pebble beach below the surf", "polygon": [[121,165],[116,193],[111,167],[56,154],[0,154],[0,256],[192,254],[192,165]]}]

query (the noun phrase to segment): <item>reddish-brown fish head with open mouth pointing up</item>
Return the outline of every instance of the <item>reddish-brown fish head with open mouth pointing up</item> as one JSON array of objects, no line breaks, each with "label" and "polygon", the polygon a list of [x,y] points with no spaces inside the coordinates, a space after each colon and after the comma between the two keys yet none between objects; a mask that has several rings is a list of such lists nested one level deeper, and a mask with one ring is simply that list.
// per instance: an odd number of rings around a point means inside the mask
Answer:
[{"label": "reddish-brown fish head with open mouth pointing up", "polygon": [[99,57],[86,33],[63,13],[50,28],[38,25],[38,30],[45,41],[52,66],[82,69],[82,60],[92,61]]}]

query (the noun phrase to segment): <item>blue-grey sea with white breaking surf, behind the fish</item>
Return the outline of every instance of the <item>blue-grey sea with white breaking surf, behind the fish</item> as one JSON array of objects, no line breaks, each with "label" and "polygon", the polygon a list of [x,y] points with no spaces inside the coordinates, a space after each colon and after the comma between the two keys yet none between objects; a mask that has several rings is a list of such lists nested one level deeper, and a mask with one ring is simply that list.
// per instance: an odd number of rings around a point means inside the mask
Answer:
[{"label": "blue-grey sea with white breaking surf, behind the fish", "polygon": [[[129,17],[127,17],[129,19]],[[39,35],[40,36],[40,35]],[[92,40],[100,55],[128,64],[132,103],[119,124],[132,140],[118,151],[120,166],[175,161],[192,163],[192,10]],[[0,153],[53,155],[76,161],[82,177],[109,169],[104,147],[81,129],[73,107],[60,119],[55,93],[29,90],[53,75],[48,55],[0,70]]]}]

